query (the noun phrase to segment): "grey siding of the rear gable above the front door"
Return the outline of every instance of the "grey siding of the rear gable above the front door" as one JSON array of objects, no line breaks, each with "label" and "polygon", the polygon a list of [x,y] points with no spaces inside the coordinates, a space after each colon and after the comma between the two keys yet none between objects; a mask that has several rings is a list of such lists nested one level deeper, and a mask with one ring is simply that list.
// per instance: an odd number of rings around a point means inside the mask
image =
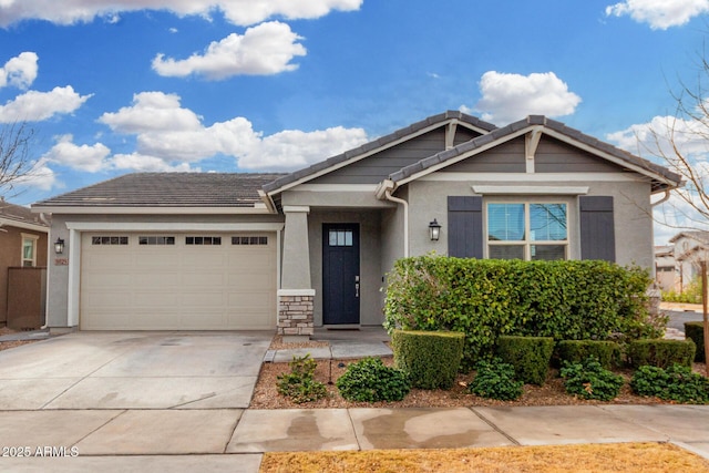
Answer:
[{"label": "grey siding of the rear gable above the front door", "polygon": [[445,128],[441,127],[317,177],[310,184],[379,184],[390,174],[444,150]]}]

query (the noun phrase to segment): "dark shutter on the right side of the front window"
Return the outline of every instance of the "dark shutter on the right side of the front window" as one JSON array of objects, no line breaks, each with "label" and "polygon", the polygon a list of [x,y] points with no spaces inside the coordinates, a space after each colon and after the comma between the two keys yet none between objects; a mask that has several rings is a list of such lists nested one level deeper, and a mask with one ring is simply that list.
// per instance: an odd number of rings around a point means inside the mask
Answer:
[{"label": "dark shutter on the right side of the front window", "polygon": [[616,260],[612,196],[578,197],[580,259]]}]

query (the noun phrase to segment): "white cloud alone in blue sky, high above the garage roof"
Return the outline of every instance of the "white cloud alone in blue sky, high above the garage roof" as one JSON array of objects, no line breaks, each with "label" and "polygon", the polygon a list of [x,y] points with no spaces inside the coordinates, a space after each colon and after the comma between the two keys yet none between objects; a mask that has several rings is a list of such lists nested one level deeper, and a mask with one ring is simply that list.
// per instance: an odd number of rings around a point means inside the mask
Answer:
[{"label": "white cloud alone in blue sky, high above the garage roof", "polygon": [[185,60],[157,54],[153,69],[160,75],[198,74],[212,80],[277,74],[298,68],[290,61],[306,55],[306,49],[297,43],[300,39],[288,24],[271,21],[247,29],[244,35],[232,33],[219,42],[212,42],[204,54],[195,53]]}]

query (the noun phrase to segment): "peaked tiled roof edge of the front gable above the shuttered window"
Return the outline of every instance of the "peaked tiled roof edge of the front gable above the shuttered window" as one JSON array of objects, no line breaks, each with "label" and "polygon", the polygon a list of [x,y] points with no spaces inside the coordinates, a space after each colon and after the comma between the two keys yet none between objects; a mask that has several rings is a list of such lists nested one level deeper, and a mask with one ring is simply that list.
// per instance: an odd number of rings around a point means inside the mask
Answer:
[{"label": "peaked tiled roof edge of the front gable above the shuttered window", "polygon": [[[427,157],[412,165],[401,168],[400,171],[389,175],[389,179],[397,184],[403,184],[415,176],[419,173],[431,169],[434,166],[445,165],[446,162],[451,164],[455,163],[455,158],[463,158],[466,154],[473,154],[475,150],[490,147],[495,142],[504,142],[505,138],[512,137],[517,132],[525,128],[533,128],[534,126],[542,126],[543,132],[547,134],[557,134],[564,137],[571,138],[572,143],[578,147],[589,147],[600,154],[606,154],[617,158],[620,163],[625,163],[636,169],[651,177],[661,177],[662,181],[654,178],[653,191],[671,188],[681,183],[681,176],[670,172],[668,168],[650,163],[647,160],[635,156],[626,151],[617,148],[612,144],[604,143],[593,136],[586,135],[578,130],[571,128],[561,122],[549,120],[543,115],[530,115],[525,120],[512,123],[502,128],[496,128],[489,134],[473,138],[466,143],[460,144],[451,150],[443,151],[433,156]],[[460,161],[460,160],[459,160]],[[431,169],[432,172],[433,169]],[[668,184],[669,181],[671,184]]]}]

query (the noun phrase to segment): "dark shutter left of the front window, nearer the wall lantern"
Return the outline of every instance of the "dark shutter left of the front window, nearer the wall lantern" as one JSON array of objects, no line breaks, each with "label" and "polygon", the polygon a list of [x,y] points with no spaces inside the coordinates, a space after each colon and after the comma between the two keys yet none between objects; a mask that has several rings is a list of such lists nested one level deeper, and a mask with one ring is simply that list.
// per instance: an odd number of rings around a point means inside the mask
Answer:
[{"label": "dark shutter left of the front window, nearer the wall lantern", "polygon": [[483,257],[482,197],[448,197],[448,254],[459,258]]}]

